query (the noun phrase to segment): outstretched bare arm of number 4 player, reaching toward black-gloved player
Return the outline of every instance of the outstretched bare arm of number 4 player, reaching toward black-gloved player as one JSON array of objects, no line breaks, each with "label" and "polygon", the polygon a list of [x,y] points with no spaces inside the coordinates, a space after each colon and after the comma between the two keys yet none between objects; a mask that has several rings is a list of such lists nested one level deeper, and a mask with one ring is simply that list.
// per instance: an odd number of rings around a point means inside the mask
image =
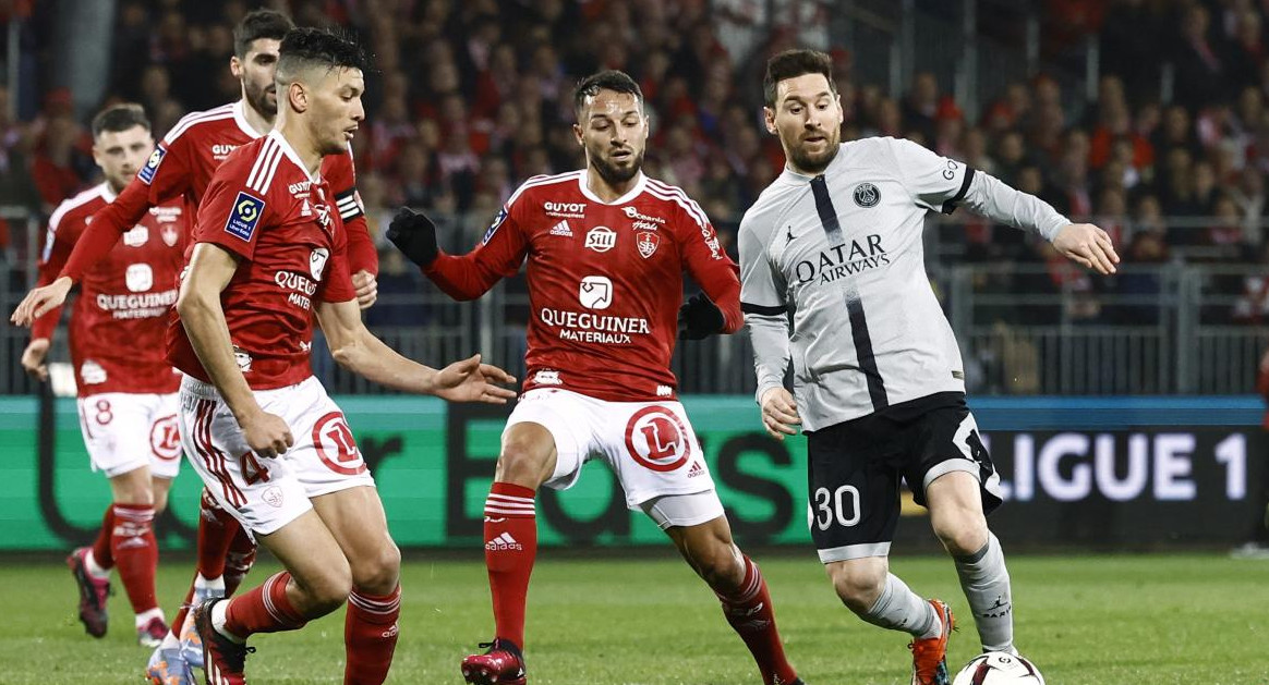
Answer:
[{"label": "outstretched bare arm of number 4 player, reaching toward black-gloved player", "polygon": [[514,383],[515,378],[481,364],[478,354],[439,370],[400,355],[365,329],[355,301],[319,303],[317,322],[335,362],[376,383],[450,402],[505,405],[515,397],[514,391],[495,384]]}]

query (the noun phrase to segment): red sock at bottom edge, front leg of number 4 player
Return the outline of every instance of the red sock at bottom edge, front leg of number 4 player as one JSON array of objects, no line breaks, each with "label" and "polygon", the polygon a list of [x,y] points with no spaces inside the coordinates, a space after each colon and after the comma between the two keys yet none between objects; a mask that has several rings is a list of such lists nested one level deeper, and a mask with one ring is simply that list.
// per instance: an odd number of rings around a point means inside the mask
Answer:
[{"label": "red sock at bottom edge, front leg of number 4 player", "polygon": [[401,586],[388,595],[369,595],[355,587],[348,595],[344,615],[344,685],[381,685],[392,667],[397,618],[401,615]]}]

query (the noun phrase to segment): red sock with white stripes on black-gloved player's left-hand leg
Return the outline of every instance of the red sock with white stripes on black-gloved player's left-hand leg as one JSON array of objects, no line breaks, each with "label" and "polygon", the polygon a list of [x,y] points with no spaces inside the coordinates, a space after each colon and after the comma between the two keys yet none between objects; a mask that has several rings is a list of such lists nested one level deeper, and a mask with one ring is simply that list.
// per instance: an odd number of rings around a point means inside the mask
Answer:
[{"label": "red sock with white stripes on black-gloved player's left-hand leg", "polygon": [[494,483],[485,500],[485,567],[494,596],[495,636],[524,648],[524,599],[538,556],[534,491]]}]

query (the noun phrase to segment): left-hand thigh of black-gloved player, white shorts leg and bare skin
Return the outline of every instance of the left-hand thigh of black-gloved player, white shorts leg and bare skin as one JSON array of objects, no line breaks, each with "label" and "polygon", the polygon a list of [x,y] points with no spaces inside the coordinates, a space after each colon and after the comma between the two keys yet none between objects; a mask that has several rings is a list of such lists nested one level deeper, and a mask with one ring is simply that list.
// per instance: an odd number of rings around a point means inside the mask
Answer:
[{"label": "left-hand thigh of black-gloved player, white shorts leg and bare skin", "polygon": [[[572,487],[595,452],[599,429],[595,402],[584,395],[552,388],[520,396],[503,430],[499,480],[519,477],[552,490]],[[504,463],[510,453],[528,463]]]}]

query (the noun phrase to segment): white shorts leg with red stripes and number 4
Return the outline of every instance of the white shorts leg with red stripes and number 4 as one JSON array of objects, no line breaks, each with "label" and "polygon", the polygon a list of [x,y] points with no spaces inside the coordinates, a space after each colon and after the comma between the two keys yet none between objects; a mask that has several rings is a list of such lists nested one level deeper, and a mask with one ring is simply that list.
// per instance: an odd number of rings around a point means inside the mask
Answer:
[{"label": "white shorts leg with red stripes and number 4", "polygon": [[[273,414],[279,407],[270,392],[255,395]],[[180,439],[207,492],[253,534],[268,535],[312,509],[289,452],[256,455],[216,389],[192,378],[180,392]]]}]

